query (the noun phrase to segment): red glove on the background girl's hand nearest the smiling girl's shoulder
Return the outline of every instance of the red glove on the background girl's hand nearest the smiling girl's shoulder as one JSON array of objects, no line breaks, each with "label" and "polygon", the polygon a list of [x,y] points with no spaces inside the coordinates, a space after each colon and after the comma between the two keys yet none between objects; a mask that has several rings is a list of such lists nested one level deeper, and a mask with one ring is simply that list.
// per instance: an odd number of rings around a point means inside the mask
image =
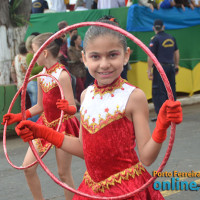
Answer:
[{"label": "red glove on the background girl's hand nearest the smiling girl's shoulder", "polygon": [[76,107],[70,106],[66,99],[58,99],[56,105],[58,109],[63,110],[68,115],[74,115],[76,113]]}]

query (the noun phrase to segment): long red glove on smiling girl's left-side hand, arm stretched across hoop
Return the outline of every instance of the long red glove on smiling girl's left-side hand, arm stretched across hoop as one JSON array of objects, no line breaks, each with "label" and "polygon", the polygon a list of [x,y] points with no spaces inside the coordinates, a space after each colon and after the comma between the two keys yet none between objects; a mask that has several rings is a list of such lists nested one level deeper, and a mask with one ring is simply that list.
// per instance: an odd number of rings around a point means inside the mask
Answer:
[{"label": "long red glove on smiling girl's left-side hand, arm stretched across hoop", "polygon": [[24,142],[28,142],[35,138],[43,138],[56,147],[60,148],[64,140],[63,133],[59,133],[51,128],[36,124],[35,122],[29,120],[21,121],[15,127],[15,131],[17,135],[19,135],[24,140]]}]

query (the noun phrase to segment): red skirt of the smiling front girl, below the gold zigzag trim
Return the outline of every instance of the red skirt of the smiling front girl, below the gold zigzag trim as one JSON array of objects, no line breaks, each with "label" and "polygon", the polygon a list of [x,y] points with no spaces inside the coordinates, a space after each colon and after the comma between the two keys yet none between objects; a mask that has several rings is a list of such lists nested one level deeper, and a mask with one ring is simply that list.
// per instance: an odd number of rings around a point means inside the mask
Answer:
[{"label": "red skirt of the smiling front girl, below the gold zigzag trim", "polygon": [[[106,167],[105,167],[106,170]],[[127,171],[127,170],[126,170]],[[144,183],[146,183],[150,178],[151,175],[146,171],[145,168],[141,170],[140,173],[137,173],[134,171],[135,175],[126,174],[126,172],[120,172],[121,178],[118,177],[118,180],[113,182],[112,184],[105,184],[105,180],[101,181],[100,183],[96,183],[96,186],[99,187],[102,182],[104,182],[104,190],[102,191],[95,191],[95,184],[88,184],[86,179],[82,181],[80,184],[78,190],[81,192],[84,192],[86,194],[92,195],[92,196],[101,196],[101,197],[111,197],[111,196],[120,196],[124,195],[130,192],[133,192],[134,190],[140,188],[143,186]],[[123,177],[124,178],[123,178]],[[107,180],[110,181],[108,178]],[[73,200],[89,200],[91,198],[86,198],[80,195],[75,195]],[[153,189],[153,185],[151,184],[148,188],[145,190],[136,193],[133,197],[125,198],[126,200],[163,200],[164,197],[159,191],[156,191]]]}]

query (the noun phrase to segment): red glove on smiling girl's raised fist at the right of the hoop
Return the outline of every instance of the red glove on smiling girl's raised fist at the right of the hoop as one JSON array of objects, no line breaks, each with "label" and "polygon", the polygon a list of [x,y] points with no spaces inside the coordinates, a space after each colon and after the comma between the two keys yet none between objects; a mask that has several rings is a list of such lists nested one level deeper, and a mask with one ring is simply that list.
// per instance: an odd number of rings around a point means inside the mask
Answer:
[{"label": "red glove on smiling girl's raised fist at the right of the hoop", "polygon": [[156,127],[152,138],[157,143],[163,143],[167,137],[167,129],[171,122],[180,124],[183,120],[181,103],[179,101],[166,100],[158,113]]}]

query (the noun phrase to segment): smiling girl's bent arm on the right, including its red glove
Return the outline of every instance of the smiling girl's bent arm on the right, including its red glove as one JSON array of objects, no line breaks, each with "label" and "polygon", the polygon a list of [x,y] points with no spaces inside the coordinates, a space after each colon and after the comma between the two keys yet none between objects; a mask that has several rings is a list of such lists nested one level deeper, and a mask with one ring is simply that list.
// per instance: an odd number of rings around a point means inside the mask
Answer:
[{"label": "smiling girl's bent arm on the right, including its red glove", "polygon": [[160,108],[156,127],[151,136],[148,104],[144,92],[140,89],[135,89],[130,95],[126,114],[134,123],[140,160],[147,166],[151,165],[157,158],[171,122],[179,124],[183,119],[181,103],[166,100]]}]

